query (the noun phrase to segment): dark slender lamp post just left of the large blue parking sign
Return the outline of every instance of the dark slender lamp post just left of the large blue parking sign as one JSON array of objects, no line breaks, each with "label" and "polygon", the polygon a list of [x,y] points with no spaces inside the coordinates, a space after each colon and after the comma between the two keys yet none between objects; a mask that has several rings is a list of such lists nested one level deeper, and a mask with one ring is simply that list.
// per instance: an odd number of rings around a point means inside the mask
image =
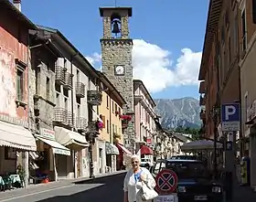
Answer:
[{"label": "dark slender lamp post just left of the large blue parking sign", "polygon": [[218,175],[218,164],[217,164],[217,141],[218,141],[218,116],[219,116],[219,108],[215,105],[213,106],[212,111],[210,112],[211,118],[214,122],[214,159],[213,159],[213,171],[214,171],[214,177],[217,178]]}]

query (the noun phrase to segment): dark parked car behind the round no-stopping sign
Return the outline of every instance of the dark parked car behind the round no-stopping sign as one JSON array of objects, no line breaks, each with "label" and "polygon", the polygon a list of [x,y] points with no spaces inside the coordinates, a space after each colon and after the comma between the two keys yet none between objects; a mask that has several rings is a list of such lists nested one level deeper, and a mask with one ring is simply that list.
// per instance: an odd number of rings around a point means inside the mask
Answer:
[{"label": "dark parked car behind the round no-stopping sign", "polygon": [[222,185],[212,179],[207,167],[199,160],[159,160],[152,168],[156,176],[163,169],[176,172],[178,184],[176,194],[179,202],[223,201]]}]

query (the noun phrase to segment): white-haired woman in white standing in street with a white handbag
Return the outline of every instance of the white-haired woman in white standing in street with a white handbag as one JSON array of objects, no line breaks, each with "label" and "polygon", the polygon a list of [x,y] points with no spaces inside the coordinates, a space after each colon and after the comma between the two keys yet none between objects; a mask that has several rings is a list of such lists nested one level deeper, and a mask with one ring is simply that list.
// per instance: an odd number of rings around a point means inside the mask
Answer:
[{"label": "white-haired woman in white standing in street with a white handbag", "polygon": [[143,184],[154,189],[155,179],[149,170],[140,166],[141,161],[138,155],[133,155],[131,161],[133,167],[127,171],[123,181],[123,202],[140,202],[142,199],[138,197],[138,193]]}]

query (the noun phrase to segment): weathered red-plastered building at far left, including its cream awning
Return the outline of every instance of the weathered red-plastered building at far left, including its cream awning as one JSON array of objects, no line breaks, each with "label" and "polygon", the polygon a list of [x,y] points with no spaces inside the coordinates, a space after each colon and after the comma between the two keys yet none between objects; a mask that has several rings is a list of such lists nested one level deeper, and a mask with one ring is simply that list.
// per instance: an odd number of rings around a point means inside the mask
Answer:
[{"label": "weathered red-plastered building at far left, including its cream awning", "polygon": [[37,150],[30,132],[28,85],[28,30],[37,27],[20,9],[19,1],[16,5],[8,0],[0,2],[0,175],[15,173],[16,165],[23,166],[28,175],[28,151]]}]

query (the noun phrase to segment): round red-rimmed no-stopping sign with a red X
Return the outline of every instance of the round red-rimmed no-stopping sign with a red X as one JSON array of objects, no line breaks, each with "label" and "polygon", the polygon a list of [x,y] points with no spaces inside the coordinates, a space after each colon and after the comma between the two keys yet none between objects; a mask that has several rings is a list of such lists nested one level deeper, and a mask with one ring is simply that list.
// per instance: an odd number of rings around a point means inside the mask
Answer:
[{"label": "round red-rimmed no-stopping sign with a red X", "polygon": [[156,190],[159,194],[170,194],[176,190],[177,175],[172,170],[162,170],[155,176]]}]

